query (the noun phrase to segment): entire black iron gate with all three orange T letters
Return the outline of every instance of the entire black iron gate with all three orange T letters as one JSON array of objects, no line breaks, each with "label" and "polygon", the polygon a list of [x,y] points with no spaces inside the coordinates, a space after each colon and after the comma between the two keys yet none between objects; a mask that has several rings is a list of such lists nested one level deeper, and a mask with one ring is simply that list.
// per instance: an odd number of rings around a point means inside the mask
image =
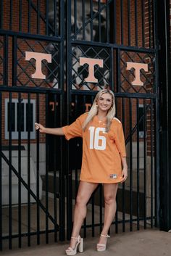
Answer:
[{"label": "entire black iron gate with all three orange T letters", "polygon": [[[70,238],[82,141],[33,126],[71,123],[104,86],[115,94],[129,166],[112,228],[157,226],[155,1],[1,1],[0,9],[1,249],[14,239],[21,247],[23,237],[28,246],[44,234],[46,243],[51,233]],[[83,234],[91,228],[94,236],[103,225],[102,186],[88,209]]]}]

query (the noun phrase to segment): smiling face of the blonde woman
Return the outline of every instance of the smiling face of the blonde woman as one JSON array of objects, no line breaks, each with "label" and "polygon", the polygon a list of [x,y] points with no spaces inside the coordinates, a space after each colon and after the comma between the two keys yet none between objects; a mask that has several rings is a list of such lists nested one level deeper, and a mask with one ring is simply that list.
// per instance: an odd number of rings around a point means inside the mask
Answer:
[{"label": "smiling face of the blonde woman", "polygon": [[112,95],[105,93],[97,100],[98,109],[107,112],[112,107]]}]

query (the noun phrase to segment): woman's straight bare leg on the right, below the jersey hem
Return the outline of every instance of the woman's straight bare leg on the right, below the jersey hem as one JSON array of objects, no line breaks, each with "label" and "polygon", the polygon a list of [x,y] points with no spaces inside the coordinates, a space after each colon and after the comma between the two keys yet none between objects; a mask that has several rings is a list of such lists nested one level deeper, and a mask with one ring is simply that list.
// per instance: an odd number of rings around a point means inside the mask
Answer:
[{"label": "woman's straight bare leg on the right, below the jersey hem", "polygon": [[[107,235],[117,209],[118,183],[104,184],[104,227],[101,234]],[[99,244],[106,244],[107,238],[100,236]]]}]

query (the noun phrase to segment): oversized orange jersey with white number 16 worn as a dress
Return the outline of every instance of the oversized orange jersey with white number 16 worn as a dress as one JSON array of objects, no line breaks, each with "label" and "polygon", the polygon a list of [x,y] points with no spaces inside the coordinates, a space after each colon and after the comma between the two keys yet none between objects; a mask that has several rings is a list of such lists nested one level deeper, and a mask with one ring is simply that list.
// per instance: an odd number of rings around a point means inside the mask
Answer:
[{"label": "oversized orange jersey with white number 16 worn as a dress", "polygon": [[122,123],[114,117],[107,133],[106,118],[101,121],[95,116],[88,123],[86,131],[83,131],[87,115],[88,113],[80,115],[74,123],[62,127],[67,140],[83,138],[80,181],[118,183],[122,181],[121,156],[126,156]]}]

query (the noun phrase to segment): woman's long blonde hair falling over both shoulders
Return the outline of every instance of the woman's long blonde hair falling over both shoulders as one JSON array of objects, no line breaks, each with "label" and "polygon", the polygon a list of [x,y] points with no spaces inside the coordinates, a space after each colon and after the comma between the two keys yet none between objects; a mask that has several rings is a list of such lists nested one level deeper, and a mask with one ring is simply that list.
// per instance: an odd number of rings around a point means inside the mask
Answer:
[{"label": "woman's long blonde hair falling over both shoulders", "polygon": [[93,117],[95,117],[95,115],[97,115],[97,113],[98,113],[97,101],[101,97],[102,94],[112,95],[112,106],[111,106],[110,110],[108,110],[108,112],[107,112],[106,132],[109,131],[112,119],[115,117],[116,108],[115,108],[115,102],[114,102],[114,93],[111,90],[107,90],[107,89],[103,89],[103,90],[99,91],[98,94],[96,94],[96,97],[93,101],[93,105],[91,107],[91,110],[88,112],[88,116],[86,117],[86,120],[83,123],[83,131],[86,130],[86,127],[87,127],[88,123],[91,122]]}]

